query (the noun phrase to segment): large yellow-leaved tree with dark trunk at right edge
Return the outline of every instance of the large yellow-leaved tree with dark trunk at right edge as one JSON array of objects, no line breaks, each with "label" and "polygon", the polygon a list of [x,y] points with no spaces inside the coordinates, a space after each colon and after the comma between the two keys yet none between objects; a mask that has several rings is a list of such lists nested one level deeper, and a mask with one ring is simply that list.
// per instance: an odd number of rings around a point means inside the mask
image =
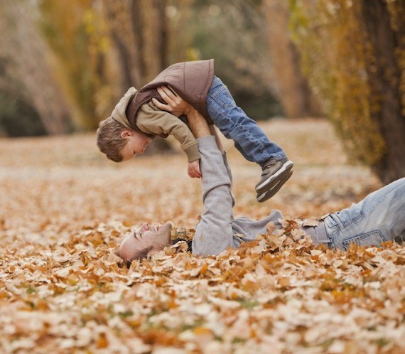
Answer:
[{"label": "large yellow-leaved tree with dark trunk at right edge", "polygon": [[405,2],[293,0],[303,70],[353,159],[405,176]]}]

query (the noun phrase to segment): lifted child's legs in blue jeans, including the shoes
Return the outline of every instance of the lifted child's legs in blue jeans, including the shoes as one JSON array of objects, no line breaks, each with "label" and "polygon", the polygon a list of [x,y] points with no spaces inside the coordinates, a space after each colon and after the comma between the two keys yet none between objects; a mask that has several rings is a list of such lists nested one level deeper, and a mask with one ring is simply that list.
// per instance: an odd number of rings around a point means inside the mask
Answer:
[{"label": "lifted child's legs in blue jeans, including the shoes", "polygon": [[261,178],[256,185],[257,200],[264,202],[271,198],[291,177],[293,163],[286,153],[269,141],[257,123],[237,107],[218,77],[214,77],[207,95],[207,112],[222,134],[234,141],[242,156],[261,166]]}]

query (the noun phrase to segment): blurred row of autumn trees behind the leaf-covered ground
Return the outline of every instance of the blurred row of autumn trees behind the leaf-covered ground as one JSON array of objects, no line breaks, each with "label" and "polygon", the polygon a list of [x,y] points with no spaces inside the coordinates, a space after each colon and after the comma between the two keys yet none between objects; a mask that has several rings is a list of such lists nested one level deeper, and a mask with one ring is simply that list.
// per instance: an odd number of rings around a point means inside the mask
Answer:
[{"label": "blurred row of autumn trees behind the leaf-covered ground", "polygon": [[404,18],[401,0],[3,0],[0,134],[95,131],[128,87],[215,58],[249,116],[327,117],[388,183],[405,174]]}]

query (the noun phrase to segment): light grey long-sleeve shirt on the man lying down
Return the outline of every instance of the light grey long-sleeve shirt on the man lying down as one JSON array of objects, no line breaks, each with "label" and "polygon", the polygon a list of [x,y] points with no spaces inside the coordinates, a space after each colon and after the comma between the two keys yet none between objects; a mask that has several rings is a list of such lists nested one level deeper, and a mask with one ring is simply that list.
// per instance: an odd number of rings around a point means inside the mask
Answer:
[{"label": "light grey long-sleeve shirt on the man lying down", "polygon": [[200,151],[202,173],[202,202],[204,213],[195,228],[193,253],[202,256],[217,255],[228,247],[237,248],[241,242],[255,240],[257,235],[267,232],[266,225],[274,222],[281,227],[279,210],[261,220],[233,218],[232,175],[226,154],[222,154],[215,142],[215,136],[197,139]]}]

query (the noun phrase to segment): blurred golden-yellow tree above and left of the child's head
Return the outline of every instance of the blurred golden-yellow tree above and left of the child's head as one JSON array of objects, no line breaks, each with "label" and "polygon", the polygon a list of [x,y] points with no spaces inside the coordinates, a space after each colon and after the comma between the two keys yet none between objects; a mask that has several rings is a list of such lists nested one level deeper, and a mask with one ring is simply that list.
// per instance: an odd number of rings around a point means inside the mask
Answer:
[{"label": "blurred golden-yellow tree above and left of the child's head", "polygon": [[38,0],[43,35],[76,129],[95,129],[112,102],[114,77],[109,36],[97,0]]}]

